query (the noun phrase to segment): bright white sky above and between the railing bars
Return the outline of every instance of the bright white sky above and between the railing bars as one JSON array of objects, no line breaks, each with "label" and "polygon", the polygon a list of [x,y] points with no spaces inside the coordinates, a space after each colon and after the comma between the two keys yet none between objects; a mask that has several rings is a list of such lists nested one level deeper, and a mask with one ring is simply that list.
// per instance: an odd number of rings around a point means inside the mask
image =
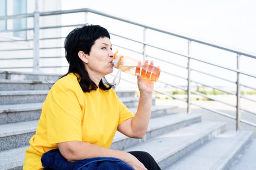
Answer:
[{"label": "bright white sky above and between the railing bars", "polygon": [[[62,10],[78,8],[256,55],[256,0],[62,0]],[[220,60],[230,63],[228,57]],[[241,63],[245,71],[256,73],[256,61]]]}]

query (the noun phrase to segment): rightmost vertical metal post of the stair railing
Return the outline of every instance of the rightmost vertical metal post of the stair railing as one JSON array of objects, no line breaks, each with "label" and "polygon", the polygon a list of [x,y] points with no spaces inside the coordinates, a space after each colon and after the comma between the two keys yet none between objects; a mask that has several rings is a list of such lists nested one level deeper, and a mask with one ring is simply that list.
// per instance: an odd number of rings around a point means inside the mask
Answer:
[{"label": "rightmost vertical metal post of the stair railing", "polygon": [[[239,70],[240,65],[240,54],[236,55],[236,69]],[[241,128],[241,89],[240,89],[240,73],[236,73],[236,131],[239,131]]]}]

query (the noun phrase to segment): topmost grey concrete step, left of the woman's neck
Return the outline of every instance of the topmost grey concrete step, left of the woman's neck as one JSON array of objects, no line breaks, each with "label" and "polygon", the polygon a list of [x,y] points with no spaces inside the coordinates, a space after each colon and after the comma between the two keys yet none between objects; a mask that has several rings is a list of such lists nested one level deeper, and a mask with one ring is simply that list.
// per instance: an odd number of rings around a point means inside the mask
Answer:
[{"label": "topmost grey concrete step, left of the woman's neck", "polygon": [[41,72],[17,72],[17,71],[0,71],[0,79],[9,79],[16,81],[23,80],[35,80],[35,81],[56,81],[62,75],[60,74],[48,74]]}]

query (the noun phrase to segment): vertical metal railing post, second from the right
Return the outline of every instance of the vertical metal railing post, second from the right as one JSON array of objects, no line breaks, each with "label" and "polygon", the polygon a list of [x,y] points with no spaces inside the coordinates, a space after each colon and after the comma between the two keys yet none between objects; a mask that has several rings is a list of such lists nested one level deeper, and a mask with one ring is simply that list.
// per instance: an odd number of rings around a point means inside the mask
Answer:
[{"label": "vertical metal railing post, second from the right", "polygon": [[188,41],[188,88],[187,88],[187,113],[191,113],[191,68],[190,68],[190,51],[191,51],[191,40]]}]

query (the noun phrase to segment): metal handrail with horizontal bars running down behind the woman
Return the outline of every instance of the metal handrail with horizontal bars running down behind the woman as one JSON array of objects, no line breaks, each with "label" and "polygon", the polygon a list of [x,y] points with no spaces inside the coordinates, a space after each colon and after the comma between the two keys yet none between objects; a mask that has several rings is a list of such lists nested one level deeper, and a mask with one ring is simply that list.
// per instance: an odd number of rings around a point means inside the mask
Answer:
[{"label": "metal handrail with horizontal bars running down behind the woman", "polygon": [[[111,33],[111,32],[110,32],[110,34],[143,45],[143,52],[135,51],[135,50],[132,50],[132,49],[130,49],[128,47],[121,46],[121,45],[118,45],[118,44],[113,44],[113,45],[116,46],[116,47],[122,48],[122,49],[126,49],[126,50],[129,50],[129,51],[132,51],[132,52],[136,52],[138,54],[142,54],[144,56],[144,58],[147,56],[147,57],[150,57],[150,58],[153,58],[153,59],[156,59],[156,60],[168,63],[169,65],[173,65],[173,66],[176,66],[176,67],[179,67],[179,68],[186,69],[187,72],[188,72],[187,77],[183,77],[183,76],[172,74],[172,73],[170,73],[168,71],[162,70],[162,73],[164,73],[164,74],[171,75],[171,76],[177,77],[177,78],[182,79],[182,80],[186,80],[188,82],[187,88],[184,88],[184,87],[181,87],[181,86],[178,86],[178,85],[173,85],[173,84],[170,84],[170,83],[167,83],[167,82],[163,82],[161,80],[158,81],[161,84],[168,85],[168,86],[171,86],[171,87],[178,88],[178,89],[186,91],[187,92],[187,100],[184,100],[182,98],[179,98],[179,97],[177,97],[175,95],[171,95],[171,94],[163,92],[163,91],[155,90],[155,92],[161,93],[161,94],[164,94],[164,95],[167,95],[167,96],[170,96],[172,98],[178,99],[178,100],[183,101],[183,102],[187,102],[187,105],[188,105],[187,106],[188,107],[187,108],[187,112],[188,113],[191,112],[190,106],[191,105],[195,105],[195,106],[201,107],[203,109],[212,111],[214,113],[217,113],[217,114],[220,114],[220,115],[232,118],[232,119],[236,119],[236,130],[240,129],[240,122],[244,122],[244,123],[247,123],[247,124],[250,124],[250,125],[256,127],[255,123],[250,122],[250,121],[246,121],[246,120],[243,120],[243,119],[240,119],[240,117],[241,117],[240,116],[241,115],[240,112],[241,111],[246,111],[248,113],[256,114],[256,113],[254,113],[254,112],[252,112],[252,111],[250,111],[250,110],[248,110],[246,108],[242,108],[240,106],[240,99],[241,98],[249,100],[251,102],[256,102],[253,99],[250,99],[250,98],[248,98],[246,96],[240,95],[240,87],[241,86],[244,86],[244,87],[256,90],[255,87],[252,87],[250,85],[246,85],[246,84],[240,83],[240,75],[242,74],[242,75],[246,75],[246,76],[249,76],[249,77],[252,77],[252,78],[256,78],[256,75],[248,73],[248,72],[245,72],[245,71],[242,71],[242,70],[239,70],[239,58],[240,58],[241,55],[242,56],[246,56],[246,57],[250,57],[250,58],[253,58],[253,59],[256,59],[256,54],[249,53],[249,52],[244,52],[244,51],[238,51],[238,50],[235,50],[233,48],[227,48],[227,47],[220,46],[220,45],[213,44],[213,43],[209,43],[209,42],[206,42],[206,41],[201,41],[201,40],[198,40],[198,39],[195,39],[195,38],[192,38],[192,37],[187,37],[187,36],[183,36],[183,35],[179,35],[179,34],[174,34],[174,33],[167,32],[167,31],[164,31],[164,30],[160,30],[160,29],[157,29],[157,28],[153,28],[153,27],[150,27],[150,26],[147,26],[147,25],[136,23],[136,22],[133,22],[133,21],[130,21],[130,20],[127,20],[127,19],[123,19],[123,18],[120,18],[120,17],[111,16],[111,15],[108,15],[106,13],[102,13],[102,12],[99,12],[99,11],[96,11],[96,10],[92,10],[92,9],[89,9],[89,8],[73,9],[73,10],[61,10],[61,11],[51,11],[51,12],[39,12],[38,10],[36,10],[34,13],[31,13],[31,14],[22,14],[22,15],[13,15],[13,16],[2,16],[2,17],[0,17],[0,20],[8,20],[8,19],[14,19],[14,18],[27,18],[27,17],[34,17],[34,18],[36,18],[33,28],[5,30],[5,31],[2,31],[2,32],[17,32],[17,31],[32,31],[33,30],[34,34],[38,36],[39,35],[39,30],[80,26],[81,24],[56,25],[56,26],[39,27],[39,24],[36,23],[36,21],[38,20],[39,17],[56,16],[56,15],[71,14],[71,13],[85,13],[85,15],[87,13],[93,13],[93,14],[97,14],[97,15],[100,15],[100,16],[103,16],[103,17],[112,18],[112,19],[115,19],[115,20],[118,20],[118,21],[122,21],[122,22],[126,22],[126,23],[129,23],[129,24],[132,24],[132,25],[136,25],[136,26],[142,27],[144,29],[144,39],[143,39],[143,41],[138,41],[138,40],[135,40],[135,39],[132,39],[132,38],[129,38],[129,37],[125,37],[123,35]],[[187,51],[187,54],[176,52],[176,51],[171,51],[171,50],[164,49],[162,47],[157,47],[155,45],[147,43],[145,41],[145,39],[146,39],[145,36],[147,36],[146,35],[146,31],[147,30],[152,30],[152,31],[155,31],[155,32],[163,33],[163,34],[168,34],[168,35],[172,35],[172,36],[175,36],[175,37],[187,40],[188,41],[188,51]],[[20,39],[19,40],[7,40],[7,41],[1,40],[0,43],[16,42],[16,41],[17,42],[19,42],[19,41],[34,41],[34,42],[37,42],[37,43],[34,43],[34,47],[33,48],[2,49],[0,51],[20,51],[20,50],[23,50],[23,51],[24,50],[30,50],[31,51],[31,50],[34,50],[34,56],[39,57],[39,50],[50,50],[50,49],[61,49],[61,48],[63,48],[63,47],[41,47],[40,48],[38,46],[38,42],[39,41],[50,40],[50,39],[63,39],[63,38],[65,38],[65,37],[43,37],[43,38],[39,38],[39,36],[38,36],[38,37],[34,37],[34,39],[25,39],[25,40],[20,40]],[[216,48],[216,49],[220,49],[220,50],[223,50],[223,51],[229,51],[229,52],[232,52],[232,53],[236,54],[237,55],[237,68],[236,69],[228,68],[226,66],[221,66],[219,64],[208,62],[208,61],[199,59],[199,58],[197,58],[195,56],[192,56],[190,54],[191,43],[192,42],[199,43],[199,44],[202,44],[202,45],[205,45],[205,46],[210,46],[210,47],[213,47],[213,48]],[[185,67],[183,65],[176,64],[174,62],[169,62],[169,61],[166,61],[164,59],[159,59],[157,57],[154,57],[154,56],[151,56],[151,55],[147,55],[145,47],[151,47],[151,48],[154,48],[154,49],[157,49],[157,50],[160,50],[160,51],[165,51],[165,52],[168,52],[168,53],[171,53],[171,54],[176,54],[176,55],[178,55],[180,57],[185,57],[185,58],[188,59],[187,66]],[[35,50],[35,49],[37,49],[37,50]],[[51,56],[51,57],[44,56],[44,57],[40,57],[40,58],[63,58],[63,57],[61,57],[61,56]],[[8,60],[7,57],[3,57],[3,58],[0,58],[0,59],[1,60]],[[13,57],[10,60],[12,60],[12,59],[32,59],[32,57],[31,58],[29,58],[29,57],[23,57],[23,58],[22,57],[21,58],[16,57],[15,58],[15,57]],[[221,77],[218,77],[218,76],[210,74],[210,73],[206,73],[206,72],[200,71],[200,70],[198,70],[196,68],[192,68],[191,60],[198,61],[198,62],[207,64],[207,65],[211,65],[211,66],[214,66],[214,67],[217,67],[217,68],[223,68],[225,70],[229,70],[229,71],[235,72],[237,74],[236,81],[234,82],[234,81],[231,81],[231,80],[228,80],[228,79],[225,79],[225,78],[221,78]],[[34,65],[39,65],[39,58],[34,60]],[[63,67],[67,67],[67,66],[43,66],[43,67],[41,66],[40,68],[63,68]],[[8,67],[5,67],[4,69],[7,69],[7,68]],[[13,67],[13,68],[24,68],[24,67]],[[26,67],[26,68],[31,68],[31,67]],[[226,81],[226,82],[229,82],[229,83],[234,83],[234,84],[236,84],[236,93],[230,92],[230,91],[227,91],[227,90],[224,90],[224,89],[221,89],[221,88],[214,87],[213,85],[206,85],[206,84],[204,84],[202,82],[195,81],[195,80],[192,79],[191,71],[198,72],[198,73],[210,76],[210,77],[218,78],[220,80],[223,80],[223,81]],[[128,81],[128,80],[125,80],[125,81]],[[128,81],[128,82],[130,82],[130,81]],[[130,83],[133,83],[133,82],[130,82]],[[210,87],[210,88],[213,88],[213,89],[216,89],[216,90],[223,91],[223,92],[228,93],[230,95],[235,95],[236,96],[236,104],[230,104],[228,102],[223,102],[223,101],[214,99],[213,97],[210,97],[208,95],[199,93],[197,91],[193,91],[191,89],[191,83],[200,84],[200,85],[207,86],[207,87]],[[236,115],[236,117],[233,117],[233,116],[230,116],[228,114],[221,113],[219,111],[214,111],[212,109],[209,109],[209,108],[206,108],[206,107],[203,107],[203,106],[199,106],[198,104],[196,104],[194,102],[191,102],[191,94],[196,94],[196,95],[199,95],[199,96],[202,96],[202,97],[205,97],[205,98],[217,101],[217,102],[221,102],[221,103],[229,105],[229,106],[233,106],[233,107],[236,108],[236,114],[237,115]]]}]

